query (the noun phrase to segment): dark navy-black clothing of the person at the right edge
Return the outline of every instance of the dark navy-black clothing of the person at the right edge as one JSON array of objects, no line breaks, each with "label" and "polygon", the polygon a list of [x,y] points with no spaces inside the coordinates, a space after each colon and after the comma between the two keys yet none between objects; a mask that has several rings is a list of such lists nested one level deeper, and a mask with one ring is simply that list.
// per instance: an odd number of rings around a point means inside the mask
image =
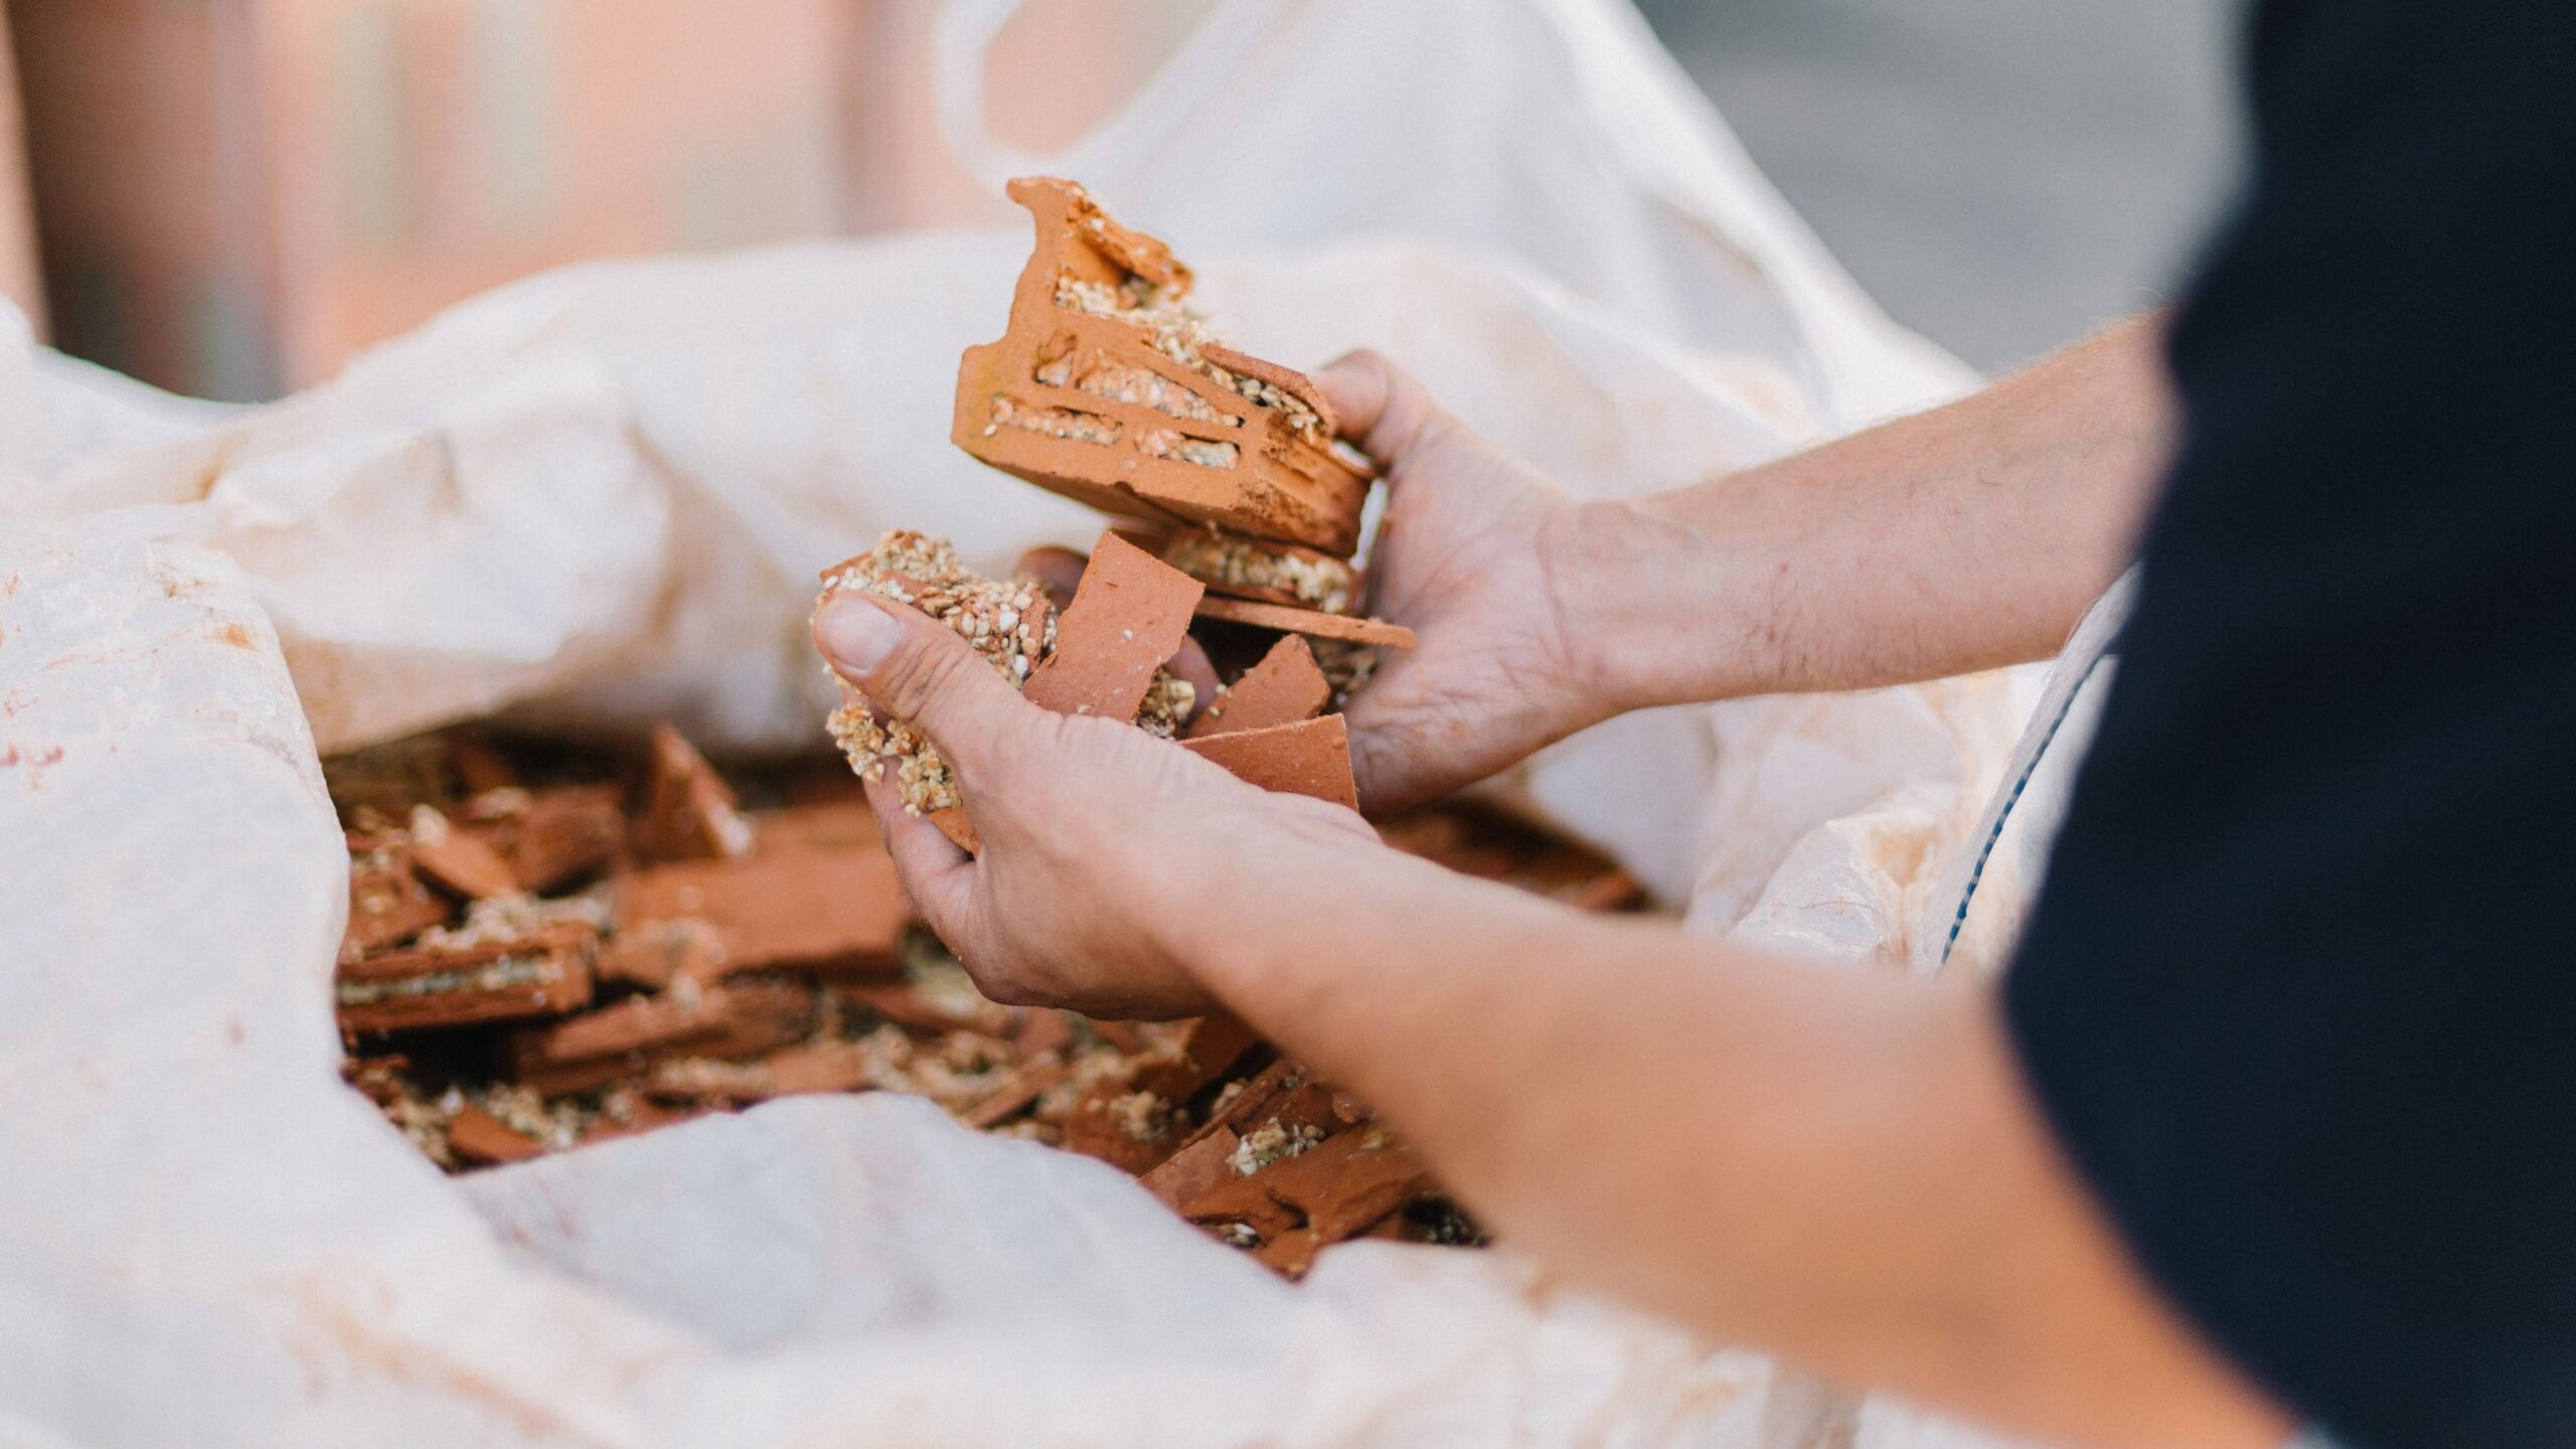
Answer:
[{"label": "dark navy-black clothing of the person at the right edge", "polygon": [[2576,1446],[2576,5],[2277,0],[2007,980],[2172,1299],[2354,1449]]}]

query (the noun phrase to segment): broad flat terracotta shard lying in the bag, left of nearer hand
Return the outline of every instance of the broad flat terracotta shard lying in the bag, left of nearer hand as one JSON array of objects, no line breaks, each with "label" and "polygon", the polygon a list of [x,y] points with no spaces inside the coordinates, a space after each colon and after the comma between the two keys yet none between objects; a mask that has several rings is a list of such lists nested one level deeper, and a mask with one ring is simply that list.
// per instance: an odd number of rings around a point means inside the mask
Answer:
[{"label": "broad flat terracotta shard lying in the bag, left of nearer hand", "polygon": [[675,861],[618,879],[618,931],[703,920],[719,972],[889,972],[912,908],[873,841],[824,851],[778,841],[747,861]]}]

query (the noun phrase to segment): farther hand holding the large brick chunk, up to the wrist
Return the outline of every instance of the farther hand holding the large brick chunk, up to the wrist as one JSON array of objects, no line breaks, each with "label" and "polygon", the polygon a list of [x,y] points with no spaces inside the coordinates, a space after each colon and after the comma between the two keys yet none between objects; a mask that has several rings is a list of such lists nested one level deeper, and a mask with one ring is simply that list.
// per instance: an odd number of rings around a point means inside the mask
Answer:
[{"label": "farther hand holding the large brick chunk, up to the wrist", "polygon": [[1316,374],[1342,433],[1386,469],[1370,611],[1409,627],[1350,701],[1370,815],[1520,763],[1615,712],[1571,642],[1566,539],[1584,505],[1432,402],[1378,353]]}]

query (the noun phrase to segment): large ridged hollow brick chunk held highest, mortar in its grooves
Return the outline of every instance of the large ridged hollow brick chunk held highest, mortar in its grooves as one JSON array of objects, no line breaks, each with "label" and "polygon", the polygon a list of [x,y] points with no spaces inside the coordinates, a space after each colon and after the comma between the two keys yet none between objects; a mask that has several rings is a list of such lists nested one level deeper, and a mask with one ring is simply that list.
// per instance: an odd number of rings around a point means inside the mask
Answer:
[{"label": "large ridged hollow brick chunk held highest, mortar in its grooves", "polygon": [[1002,340],[958,366],[969,454],[1108,513],[1216,523],[1350,557],[1370,472],[1314,382],[1213,343],[1190,268],[1069,180],[1023,178],[1036,250]]}]

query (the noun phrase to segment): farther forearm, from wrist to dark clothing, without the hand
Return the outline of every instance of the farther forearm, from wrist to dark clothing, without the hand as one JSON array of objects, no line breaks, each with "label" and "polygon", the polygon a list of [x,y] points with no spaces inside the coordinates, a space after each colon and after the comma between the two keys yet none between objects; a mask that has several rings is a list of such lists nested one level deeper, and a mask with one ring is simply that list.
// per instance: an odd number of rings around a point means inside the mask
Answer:
[{"label": "farther forearm, from wrist to dark clothing, without the hand", "polygon": [[1870,688],[2056,652],[2174,446],[2161,317],[1767,467],[1587,505],[1558,608],[1620,709]]}]

